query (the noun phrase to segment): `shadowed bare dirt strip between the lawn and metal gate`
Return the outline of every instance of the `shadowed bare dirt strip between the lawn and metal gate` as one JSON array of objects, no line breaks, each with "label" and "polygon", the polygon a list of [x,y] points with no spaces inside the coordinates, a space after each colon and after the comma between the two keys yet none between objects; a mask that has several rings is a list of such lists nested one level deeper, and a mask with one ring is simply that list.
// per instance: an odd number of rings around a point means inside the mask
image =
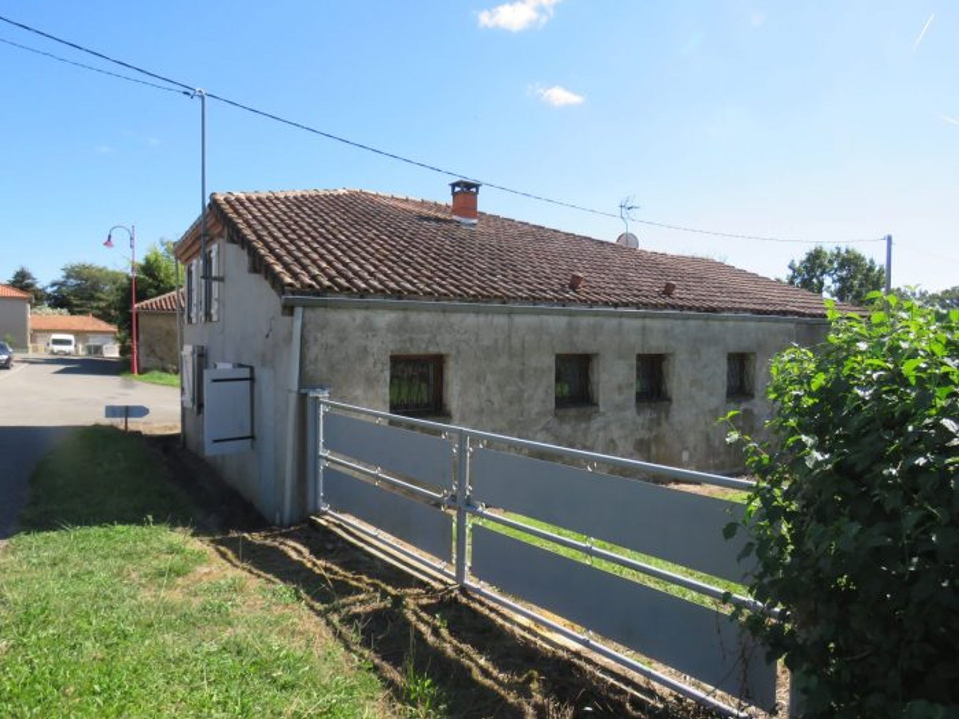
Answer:
[{"label": "shadowed bare dirt strip between the lawn and metal gate", "polygon": [[713,717],[615,665],[570,652],[498,608],[360,548],[336,525],[269,527],[175,436],[148,438],[224,560],[295,592],[372,665],[403,713],[446,717]]}]

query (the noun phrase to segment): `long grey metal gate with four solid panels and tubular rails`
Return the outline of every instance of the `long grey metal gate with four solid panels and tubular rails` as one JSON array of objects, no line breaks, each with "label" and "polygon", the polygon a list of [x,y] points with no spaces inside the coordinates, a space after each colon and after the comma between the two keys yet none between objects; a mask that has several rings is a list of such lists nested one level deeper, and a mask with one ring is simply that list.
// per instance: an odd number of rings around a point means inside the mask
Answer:
[{"label": "long grey metal gate with four solid panels and tubular rails", "polygon": [[761,611],[722,535],[744,506],[662,484],[749,482],[309,398],[312,511],[698,702],[775,706],[723,601]]}]

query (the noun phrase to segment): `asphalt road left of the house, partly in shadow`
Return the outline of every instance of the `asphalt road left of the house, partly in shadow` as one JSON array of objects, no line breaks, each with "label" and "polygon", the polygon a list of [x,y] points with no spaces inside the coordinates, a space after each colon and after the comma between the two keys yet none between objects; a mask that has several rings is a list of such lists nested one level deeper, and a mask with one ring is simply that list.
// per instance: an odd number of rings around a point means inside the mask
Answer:
[{"label": "asphalt road left of the house, partly in shadow", "polygon": [[106,405],[150,409],[143,425],[179,424],[179,391],[126,380],[113,359],[18,357],[0,370],[0,541],[15,531],[36,463],[69,428],[105,424]]}]

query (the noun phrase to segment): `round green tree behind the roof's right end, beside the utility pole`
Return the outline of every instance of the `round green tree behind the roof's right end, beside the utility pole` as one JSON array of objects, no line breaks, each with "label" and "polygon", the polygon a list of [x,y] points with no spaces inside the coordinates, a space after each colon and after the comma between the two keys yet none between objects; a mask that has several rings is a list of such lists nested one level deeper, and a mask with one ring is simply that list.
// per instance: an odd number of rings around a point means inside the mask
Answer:
[{"label": "round green tree behind the roof's right end, beside the utility pole", "polygon": [[804,290],[834,297],[840,302],[861,305],[870,292],[885,284],[885,269],[852,247],[826,248],[817,245],[801,260],[789,263],[785,281]]}]

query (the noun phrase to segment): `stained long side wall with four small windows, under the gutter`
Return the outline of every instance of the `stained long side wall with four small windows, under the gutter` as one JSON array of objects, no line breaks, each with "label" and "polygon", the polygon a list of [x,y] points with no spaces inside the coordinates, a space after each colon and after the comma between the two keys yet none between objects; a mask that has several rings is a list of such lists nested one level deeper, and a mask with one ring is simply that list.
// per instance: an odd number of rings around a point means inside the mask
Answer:
[{"label": "stained long side wall with four small windows, under the gutter", "polygon": [[[822,323],[764,317],[596,316],[308,308],[301,380],[333,399],[388,409],[389,357],[442,354],[452,422],[678,467],[737,472],[741,453],[716,419],[742,410],[756,432],[768,361],[791,342],[811,344]],[[726,356],[756,353],[755,397],[726,398]],[[555,356],[594,355],[597,406],[555,408]],[[637,404],[636,356],[667,354],[669,401]]]}]

